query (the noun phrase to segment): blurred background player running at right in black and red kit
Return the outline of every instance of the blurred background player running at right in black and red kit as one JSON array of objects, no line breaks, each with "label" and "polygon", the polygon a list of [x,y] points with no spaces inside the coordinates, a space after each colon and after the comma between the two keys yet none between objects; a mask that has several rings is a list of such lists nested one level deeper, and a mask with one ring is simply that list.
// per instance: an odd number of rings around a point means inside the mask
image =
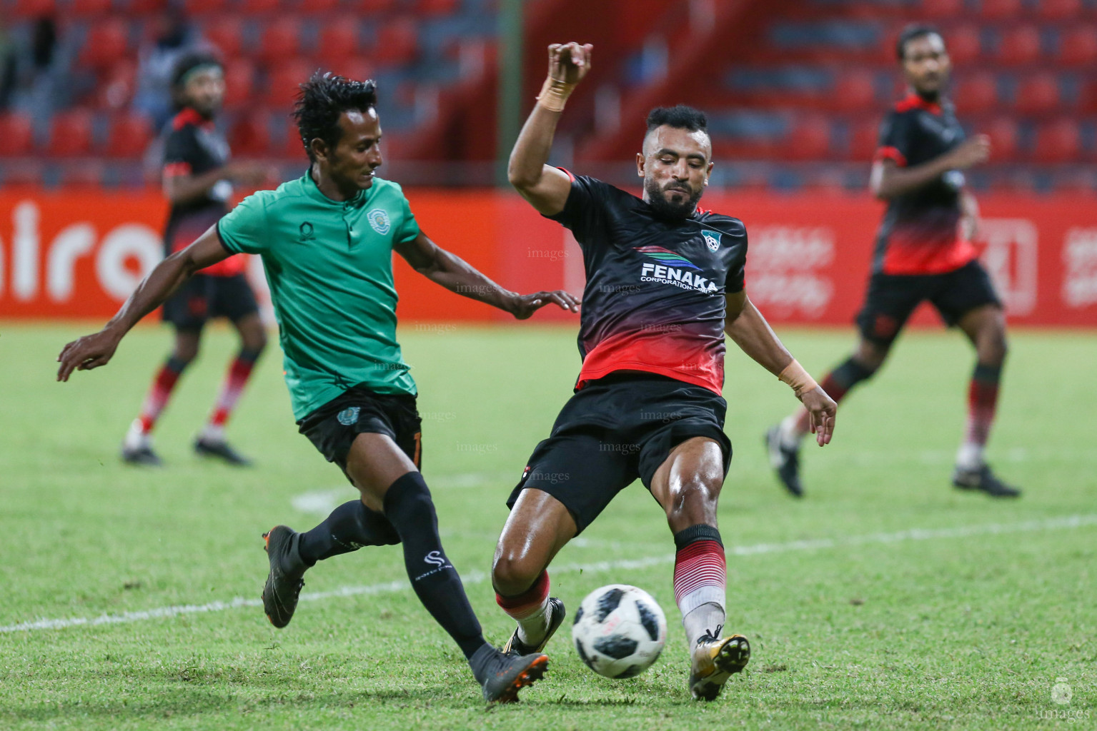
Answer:
[{"label": "blurred background player running at right in black and red kit", "polygon": [[[823,388],[841,400],[870,378],[911,312],[928,299],[946,323],[968,335],[976,354],[966,433],[952,483],[1015,498],[1020,491],[995,477],[983,459],[1006,358],[1006,320],[971,243],[979,207],[962,172],[988,159],[989,140],[984,135],[964,139],[952,105],[941,98],[950,62],[932,26],[905,28],[896,52],[909,93],[884,119],[872,168],[872,192],[887,201],[887,212],[877,238],[868,296],[857,317],[860,340],[853,354],[823,380]],[[796,496],[803,494],[798,450],[807,427],[801,410],[766,434],[770,464]]]}]

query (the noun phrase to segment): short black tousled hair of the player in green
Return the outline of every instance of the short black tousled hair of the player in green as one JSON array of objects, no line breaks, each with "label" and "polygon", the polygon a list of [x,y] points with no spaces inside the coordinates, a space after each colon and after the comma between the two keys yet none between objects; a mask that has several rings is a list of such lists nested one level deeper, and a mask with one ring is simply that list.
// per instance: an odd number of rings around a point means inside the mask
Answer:
[{"label": "short black tousled hair of the player in green", "polygon": [[343,112],[364,114],[377,105],[377,84],[373,79],[354,81],[330,71],[316,71],[299,89],[293,116],[309,160],[314,160],[309,147],[314,139],[323,139],[328,147],[339,144],[342,135],[339,115]]}]

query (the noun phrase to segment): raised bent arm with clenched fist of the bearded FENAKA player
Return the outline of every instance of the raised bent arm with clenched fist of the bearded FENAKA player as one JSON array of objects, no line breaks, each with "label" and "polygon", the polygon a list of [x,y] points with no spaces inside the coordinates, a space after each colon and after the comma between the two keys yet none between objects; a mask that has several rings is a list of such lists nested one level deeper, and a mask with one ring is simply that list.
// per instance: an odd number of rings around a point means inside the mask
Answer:
[{"label": "raised bent arm with clenched fist of the bearded FENAKA player", "polygon": [[590,44],[578,43],[548,46],[548,77],[510,152],[507,179],[545,216],[562,212],[572,191],[570,179],[547,164],[548,152],[564,103],[590,70],[592,48]]}]

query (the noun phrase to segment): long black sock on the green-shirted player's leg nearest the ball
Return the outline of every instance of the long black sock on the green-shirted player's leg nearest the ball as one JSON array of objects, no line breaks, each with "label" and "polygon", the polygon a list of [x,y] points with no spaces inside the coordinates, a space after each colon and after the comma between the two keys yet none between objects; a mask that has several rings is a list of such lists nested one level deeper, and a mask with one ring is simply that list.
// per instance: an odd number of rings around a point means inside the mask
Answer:
[{"label": "long black sock on the green-shirted player's leg nearest the ball", "polygon": [[408,472],[389,486],[385,517],[404,544],[404,564],[419,601],[471,659],[485,644],[484,635],[461,576],[442,551],[434,503],[422,475]]}]

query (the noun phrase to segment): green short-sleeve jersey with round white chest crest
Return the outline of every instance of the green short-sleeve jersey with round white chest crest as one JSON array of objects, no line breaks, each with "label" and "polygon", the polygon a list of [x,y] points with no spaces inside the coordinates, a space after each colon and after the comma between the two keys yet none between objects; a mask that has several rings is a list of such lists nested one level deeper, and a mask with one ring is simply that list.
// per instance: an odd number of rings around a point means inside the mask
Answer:
[{"label": "green short-sleeve jersey with round white chest crest", "polygon": [[262,256],[295,419],[353,386],[416,393],[396,342],[393,247],[419,226],[399,185],[374,179],[338,202],[306,172],[241,201],[217,233],[228,251]]}]

